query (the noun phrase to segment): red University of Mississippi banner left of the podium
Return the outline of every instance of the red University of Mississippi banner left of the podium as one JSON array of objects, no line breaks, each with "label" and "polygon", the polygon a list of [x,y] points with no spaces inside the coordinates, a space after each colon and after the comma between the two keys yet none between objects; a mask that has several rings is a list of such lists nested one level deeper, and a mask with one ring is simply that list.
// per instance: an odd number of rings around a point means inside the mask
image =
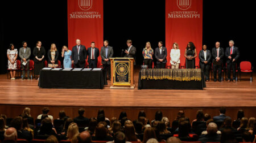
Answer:
[{"label": "red University of Mississippi banner left of the podium", "polygon": [[[68,47],[76,45],[76,39],[86,49],[92,41],[101,50],[103,46],[103,0],[68,0]],[[98,67],[101,57],[98,57]]]}]

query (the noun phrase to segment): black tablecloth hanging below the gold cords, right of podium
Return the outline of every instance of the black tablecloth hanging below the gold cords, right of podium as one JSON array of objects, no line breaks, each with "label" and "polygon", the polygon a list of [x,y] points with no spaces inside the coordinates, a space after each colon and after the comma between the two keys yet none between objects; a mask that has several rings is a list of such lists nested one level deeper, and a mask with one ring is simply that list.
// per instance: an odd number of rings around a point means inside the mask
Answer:
[{"label": "black tablecloth hanging below the gold cords, right of podium", "polygon": [[203,71],[201,81],[142,80],[139,71],[138,89],[202,89],[206,87]]}]

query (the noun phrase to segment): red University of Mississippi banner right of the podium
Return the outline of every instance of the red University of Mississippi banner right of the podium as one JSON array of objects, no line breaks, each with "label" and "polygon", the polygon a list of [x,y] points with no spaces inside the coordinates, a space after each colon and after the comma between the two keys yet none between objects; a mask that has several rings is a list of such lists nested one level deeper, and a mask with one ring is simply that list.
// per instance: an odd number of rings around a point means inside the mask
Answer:
[{"label": "red University of Mississippi banner right of the podium", "polygon": [[166,47],[167,60],[174,42],[180,49],[180,64],[185,64],[185,48],[188,42],[196,46],[196,66],[199,65],[198,54],[202,49],[203,38],[203,0],[166,0]]}]

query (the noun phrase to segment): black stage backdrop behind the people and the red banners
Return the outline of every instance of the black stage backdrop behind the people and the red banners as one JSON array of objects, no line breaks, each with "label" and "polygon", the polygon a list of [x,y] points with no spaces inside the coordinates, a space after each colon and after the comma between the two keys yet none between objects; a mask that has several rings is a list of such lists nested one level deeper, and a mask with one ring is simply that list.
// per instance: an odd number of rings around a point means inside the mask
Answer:
[{"label": "black stage backdrop behind the people and the red banners", "polygon": [[[0,73],[6,73],[6,50],[10,43],[17,49],[22,47],[22,41],[27,41],[31,49],[38,40],[46,50],[52,43],[59,50],[68,45],[67,0],[1,1],[0,5]],[[241,51],[240,60],[255,64],[254,5],[247,1],[204,0],[203,10],[203,44],[212,49],[220,41],[225,48],[229,40],[234,40]],[[164,0],[104,0],[104,40],[114,47],[114,57],[121,56],[128,39],[137,47],[137,64],[143,62],[142,49],[147,41],[152,47],[157,47],[158,41],[165,43]]]}]

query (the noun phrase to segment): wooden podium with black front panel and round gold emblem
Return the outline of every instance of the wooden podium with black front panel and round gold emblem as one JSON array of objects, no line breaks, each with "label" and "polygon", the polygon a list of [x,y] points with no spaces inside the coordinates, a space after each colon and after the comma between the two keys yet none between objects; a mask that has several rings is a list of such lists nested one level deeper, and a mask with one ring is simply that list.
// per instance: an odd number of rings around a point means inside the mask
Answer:
[{"label": "wooden podium with black front panel and round gold emblem", "polygon": [[110,89],[134,89],[133,58],[110,58],[111,86]]}]

